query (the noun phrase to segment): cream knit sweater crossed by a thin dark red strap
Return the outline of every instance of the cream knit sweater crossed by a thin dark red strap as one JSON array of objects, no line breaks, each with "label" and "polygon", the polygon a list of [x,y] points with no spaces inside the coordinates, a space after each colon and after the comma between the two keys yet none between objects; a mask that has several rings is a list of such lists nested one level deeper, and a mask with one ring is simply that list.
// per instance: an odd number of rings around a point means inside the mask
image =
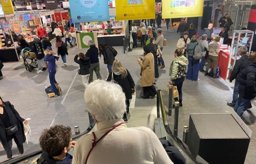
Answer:
[{"label": "cream knit sweater crossed by a thin dark red strap", "polygon": [[[123,120],[99,122],[96,141]],[[72,164],[84,164],[92,147],[93,134],[81,137],[75,144]],[[155,133],[146,127],[118,126],[91,152],[87,164],[173,164]]]}]

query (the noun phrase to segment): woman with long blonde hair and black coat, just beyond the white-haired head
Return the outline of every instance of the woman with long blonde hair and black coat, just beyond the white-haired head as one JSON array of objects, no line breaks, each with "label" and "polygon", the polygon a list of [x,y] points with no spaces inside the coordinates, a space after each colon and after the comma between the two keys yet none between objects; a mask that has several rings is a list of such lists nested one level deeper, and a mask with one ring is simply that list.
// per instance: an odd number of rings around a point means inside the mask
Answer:
[{"label": "woman with long blonde hair and black coat, just beyond the white-haired head", "polygon": [[124,113],[123,120],[124,122],[128,122],[126,114],[129,113],[129,99],[132,99],[132,94],[135,92],[135,84],[131,74],[123,67],[120,60],[114,60],[112,74],[109,74],[107,81],[114,81],[114,83],[118,83],[122,87],[126,98],[126,112]]}]

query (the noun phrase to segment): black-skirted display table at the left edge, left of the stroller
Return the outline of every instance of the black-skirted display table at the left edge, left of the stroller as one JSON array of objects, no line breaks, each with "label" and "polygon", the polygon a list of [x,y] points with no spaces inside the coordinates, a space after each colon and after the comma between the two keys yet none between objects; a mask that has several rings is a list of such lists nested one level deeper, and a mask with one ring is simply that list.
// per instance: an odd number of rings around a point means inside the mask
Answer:
[{"label": "black-skirted display table at the left edge, left of the stroller", "polygon": [[[16,48],[18,51],[18,54],[20,54],[21,47]],[[0,60],[2,62],[15,62],[19,61],[20,59],[17,57],[15,49],[1,49],[0,50]]]}]

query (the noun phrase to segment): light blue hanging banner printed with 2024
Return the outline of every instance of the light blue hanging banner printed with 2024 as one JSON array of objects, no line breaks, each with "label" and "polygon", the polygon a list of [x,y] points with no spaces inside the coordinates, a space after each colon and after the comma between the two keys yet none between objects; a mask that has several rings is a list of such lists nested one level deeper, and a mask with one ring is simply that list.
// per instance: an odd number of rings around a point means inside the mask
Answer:
[{"label": "light blue hanging banner printed with 2024", "polygon": [[72,22],[96,22],[109,20],[108,0],[69,1]]}]

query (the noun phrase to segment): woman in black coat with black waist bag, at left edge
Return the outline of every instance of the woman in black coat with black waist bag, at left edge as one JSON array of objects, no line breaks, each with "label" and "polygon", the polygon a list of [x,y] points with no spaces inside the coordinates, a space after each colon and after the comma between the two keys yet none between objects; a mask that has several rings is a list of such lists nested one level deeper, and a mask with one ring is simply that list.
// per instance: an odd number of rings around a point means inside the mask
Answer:
[{"label": "woman in black coat with black waist bag, at left edge", "polygon": [[[7,158],[12,158],[12,138],[20,154],[24,153],[23,143],[25,142],[23,122],[28,123],[27,120],[19,116],[14,106],[9,102],[4,102],[0,97],[0,141],[7,154]],[[15,126],[16,125],[16,126]],[[7,130],[9,128],[16,129]]]}]

